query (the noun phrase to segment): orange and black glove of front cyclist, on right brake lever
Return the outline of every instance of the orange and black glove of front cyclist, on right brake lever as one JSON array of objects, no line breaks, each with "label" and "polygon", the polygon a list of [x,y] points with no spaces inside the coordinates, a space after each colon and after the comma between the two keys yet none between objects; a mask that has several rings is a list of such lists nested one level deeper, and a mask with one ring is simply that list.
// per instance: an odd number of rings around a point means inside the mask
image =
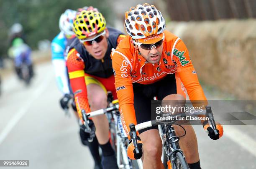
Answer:
[{"label": "orange and black glove of front cyclist, on right brake lever", "polygon": [[203,127],[205,129],[205,132],[208,133],[208,136],[213,140],[217,140],[223,135],[223,126],[218,122],[216,122],[218,134],[214,133],[214,130],[212,129],[208,122],[203,123]]}]

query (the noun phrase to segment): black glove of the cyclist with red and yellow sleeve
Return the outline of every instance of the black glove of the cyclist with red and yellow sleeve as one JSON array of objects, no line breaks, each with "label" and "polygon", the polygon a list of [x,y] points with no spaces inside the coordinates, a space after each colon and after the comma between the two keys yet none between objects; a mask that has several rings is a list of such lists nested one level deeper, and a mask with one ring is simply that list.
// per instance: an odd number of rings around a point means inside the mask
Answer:
[{"label": "black glove of the cyclist with red and yellow sleeve", "polygon": [[90,131],[87,130],[87,128],[84,126],[84,124],[81,125],[80,127],[80,137],[82,140],[86,141],[90,141],[95,137],[95,125],[92,122],[91,119],[89,119],[89,127],[90,127]]}]

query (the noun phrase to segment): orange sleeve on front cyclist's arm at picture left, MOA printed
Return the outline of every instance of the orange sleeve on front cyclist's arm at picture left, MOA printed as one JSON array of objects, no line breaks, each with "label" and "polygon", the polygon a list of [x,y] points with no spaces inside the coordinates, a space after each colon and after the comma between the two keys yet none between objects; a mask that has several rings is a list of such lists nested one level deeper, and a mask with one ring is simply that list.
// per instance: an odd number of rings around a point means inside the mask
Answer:
[{"label": "orange sleeve on front cyclist's arm at picture left, MOA printed", "polygon": [[[113,54],[113,55],[112,55]],[[131,63],[123,55],[112,53],[112,65],[115,75],[115,88],[119,100],[119,111],[125,133],[129,137],[129,124],[137,124],[133,106],[133,84]]]}]

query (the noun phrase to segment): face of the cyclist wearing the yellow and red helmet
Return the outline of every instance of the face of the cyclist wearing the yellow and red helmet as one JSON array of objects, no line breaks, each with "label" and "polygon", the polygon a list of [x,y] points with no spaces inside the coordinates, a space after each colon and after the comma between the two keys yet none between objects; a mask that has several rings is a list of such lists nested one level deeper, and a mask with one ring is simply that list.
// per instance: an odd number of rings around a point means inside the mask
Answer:
[{"label": "face of the cyclist wearing the yellow and red helmet", "polygon": [[[108,40],[107,40],[107,38],[109,36],[109,33],[108,33],[107,28],[105,29],[105,31],[106,31],[106,34],[102,35],[102,36],[104,36],[102,41],[93,42],[92,45],[84,45],[87,52],[89,52],[90,55],[92,55],[92,57],[94,57],[95,59],[98,59],[98,60],[102,59],[105,56],[105,54],[108,50]],[[96,37],[99,34],[93,35],[88,39],[92,39],[92,38]]]}]

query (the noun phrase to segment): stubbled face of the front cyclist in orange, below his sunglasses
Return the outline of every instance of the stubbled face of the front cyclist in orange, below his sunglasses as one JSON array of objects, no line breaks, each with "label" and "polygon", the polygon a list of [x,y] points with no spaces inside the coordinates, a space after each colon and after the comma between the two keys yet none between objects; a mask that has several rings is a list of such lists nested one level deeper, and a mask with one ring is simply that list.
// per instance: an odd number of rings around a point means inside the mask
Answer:
[{"label": "stubbled face of the front cyclist in orange, below his sunglasses", "polygon": [[159,47],[152,47],[151,50],[142,49],[139,46],[135,46],[138,48],[138,51],[141,53],[141,56],[144,57],[149,63],[155,64],[159,62],[161,59],[162,51],[163,51],[163,44]]}]

